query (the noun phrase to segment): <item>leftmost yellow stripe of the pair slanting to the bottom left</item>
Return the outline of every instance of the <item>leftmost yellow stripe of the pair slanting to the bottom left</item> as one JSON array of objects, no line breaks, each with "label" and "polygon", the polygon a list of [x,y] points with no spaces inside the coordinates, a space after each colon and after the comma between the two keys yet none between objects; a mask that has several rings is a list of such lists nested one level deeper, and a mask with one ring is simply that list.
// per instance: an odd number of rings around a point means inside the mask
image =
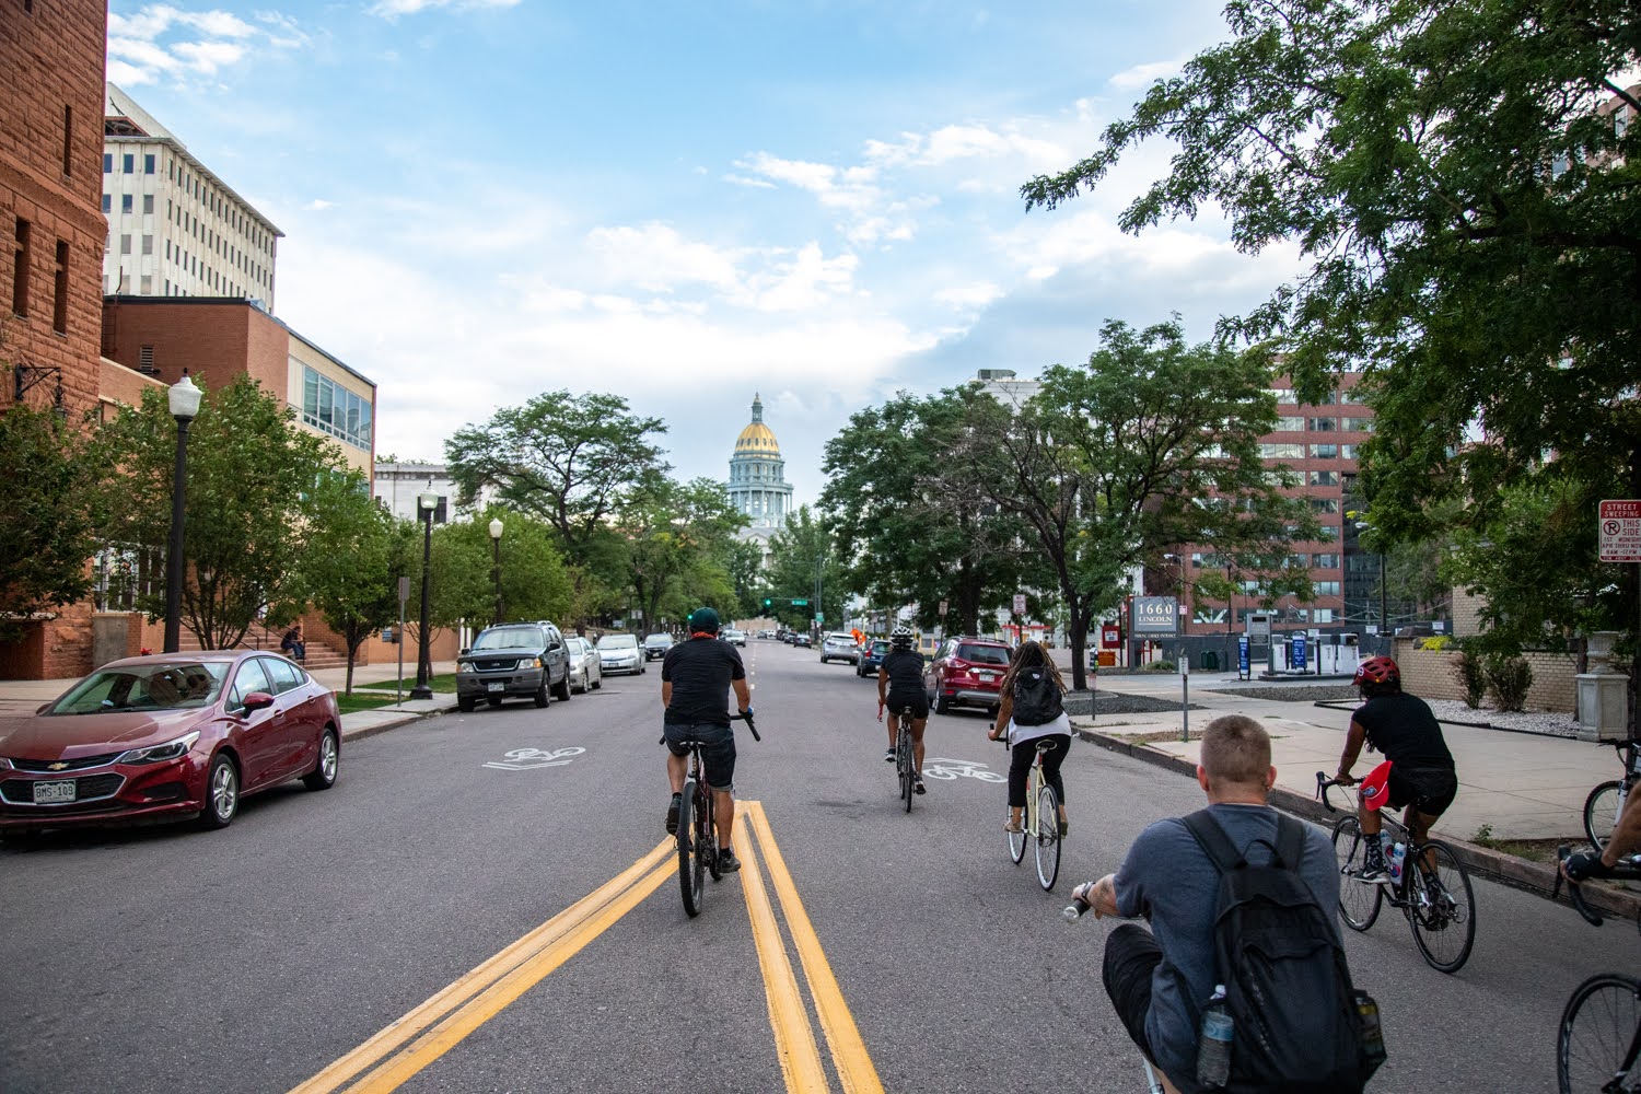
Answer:
[{"label": "leftmost yellow stripe of the pair slanting to the bottom left", "polygon": [[528,961],[533,955],[568,935],[601,907],[632,887],[633,882],[643,877],[645,871],[653,869],[656,863],[670,858],[673,850],[673,840],[663,840],[653,851],[624,869],[620,874],[581,897],[519,941],[474,968],[471,973],[466,973],[461,979],[441,989],[427,1002],[391,1022],[371,1040],[364,1042],[346,1056],[341,1056],[312,1079],[294,1087],[290,1094],[330,1094],[330,1091],[340,1089],[353,1079],[353,1076],[374,1068],[382,1058],[397,1051],[402,1045],[455,1010],[466,999],[479,994],[497,979]]}]

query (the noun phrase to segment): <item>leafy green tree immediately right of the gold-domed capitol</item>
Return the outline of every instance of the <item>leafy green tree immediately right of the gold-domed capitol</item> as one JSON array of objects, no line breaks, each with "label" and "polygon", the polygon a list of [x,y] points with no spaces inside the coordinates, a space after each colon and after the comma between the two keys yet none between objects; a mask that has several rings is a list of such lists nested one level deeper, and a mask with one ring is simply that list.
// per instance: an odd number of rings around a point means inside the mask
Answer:
[{"label": "leafy green tree immediately right of the gold-domed capitol", "polygon": [[855,413],[827,441],[820,492],[848,590],[889,609],[916,604],[919,625],[970,635],[983,612],[1026,584],[1019,522],[944,459],[975,399],[986,395],[973,387],[899,394]]}]

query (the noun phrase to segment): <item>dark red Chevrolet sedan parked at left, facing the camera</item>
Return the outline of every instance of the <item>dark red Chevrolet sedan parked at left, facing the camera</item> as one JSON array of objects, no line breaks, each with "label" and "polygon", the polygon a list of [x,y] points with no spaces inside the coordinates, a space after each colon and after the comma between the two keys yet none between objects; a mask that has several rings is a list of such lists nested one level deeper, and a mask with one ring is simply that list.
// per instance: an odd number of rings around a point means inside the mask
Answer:
[{"label": "dark red Chevrolet sedan parked at left, facing the camera", "polygon": [[336,695],[254,650],[126,658],[33,715],[0,718],[0,830],[199,817],[300,777],[336,782]]}]

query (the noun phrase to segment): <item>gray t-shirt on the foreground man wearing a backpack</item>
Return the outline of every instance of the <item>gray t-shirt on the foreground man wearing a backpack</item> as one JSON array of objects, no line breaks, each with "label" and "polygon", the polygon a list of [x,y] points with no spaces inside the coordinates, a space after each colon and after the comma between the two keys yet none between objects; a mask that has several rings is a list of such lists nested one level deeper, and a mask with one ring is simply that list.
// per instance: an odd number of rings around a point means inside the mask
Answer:
[{"label": "gray t-shirt on the foreground man wearing a backpack", "polygon": [[[1208,812],[1242,848],[1250,863],[1268,863],[1264,843],[1275,843],[1277,810],[1268,805],[1209,805]],[[1305,825],[1305,856],[1300,863],[1305,884],[1332,920],[1339,907],[1339,868],[1332,843]],[[1214,912],[1219,900],[1219,873],[1196,836],[1177,817],[1149,825],[1134,840],[1116,876],[1118,914],[1144,915],[1162,946],[1162,964],[1150,978],[1150,1012],[1145,1040],[1157,1055],[1157,1066],[1170,1076],[1193,1074],[1196,1025],[1201,1005],[1214,991]]]}]

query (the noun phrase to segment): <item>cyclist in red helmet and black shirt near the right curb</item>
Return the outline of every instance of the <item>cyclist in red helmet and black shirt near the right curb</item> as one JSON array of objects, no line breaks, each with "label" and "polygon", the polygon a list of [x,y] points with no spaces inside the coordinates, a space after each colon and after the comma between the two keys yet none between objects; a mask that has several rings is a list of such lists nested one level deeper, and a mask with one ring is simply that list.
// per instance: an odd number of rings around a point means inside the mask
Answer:
[{"label": "cyclist in red helmet and black shirt near the right curb", "polygon": [[[1406,809],[1403,822],[1413,833],[1413,841],[1421,843],[1459,792],[1459,776],[1447,741],[1442,740],[1441,723],[1429,704],[1401,691],[1401,669],[1393,658],[1369,658],[1357,666],[1351,682],[1362,689],[1367,702],[1351,715],[1351,732],[1344,738],[1336,779],[1341,786],[1355,782],[1351,768],[1364,741],[1382,751],[1390,761],[1385,804],[1390,809]],[[1357,817],[1365,843],[1357,881],[1392,884],[1378,840],[1378,810],[1362,804]]]}]

